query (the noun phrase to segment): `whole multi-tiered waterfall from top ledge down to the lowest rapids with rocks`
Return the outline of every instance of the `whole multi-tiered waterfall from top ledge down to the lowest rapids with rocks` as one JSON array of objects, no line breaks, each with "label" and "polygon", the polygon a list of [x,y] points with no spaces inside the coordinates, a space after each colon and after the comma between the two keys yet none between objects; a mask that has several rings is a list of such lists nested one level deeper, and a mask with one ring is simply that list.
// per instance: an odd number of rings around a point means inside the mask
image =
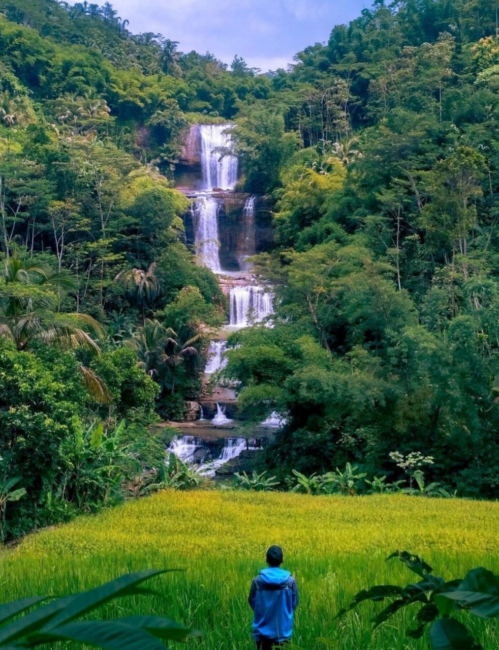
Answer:
[{"label": "whole multi-tiered waterfall from top ledge down to the lowest rapids with rocks", "polygon": [[[274,299],[272,291],[251,275],[248,263],[248,258],[268,250],[272,242],[270,211],[264,198],[248,196],[236,189],[238,160],[231,155],[232,128],[233,125],[227,123],[192,125],[175,171],[177,187],[192,200],[185,217],[186,240],[196,251],[198,263],[219,275],[220,287],[229,299],[229,322],[224,328],[227,331],[270,317]],[[204,436],[204,442],[201,435],[185,435],[175,439],[170,447],[183,460],[201,464],[203,471],[210,473],[238,456],[244,448],[252,448],[242,437],[227,437],[224,448],[213,447],[221,434],[226,436],[237,427],[237,420],[233,420],[234,391],[209,382],[213,373],[225,367],[226,348],[225,331],[220,331],[207,350],[207,393],[201,404],[201,419],[186,424],[186,433],[193,433],[194,427]],[[275,413],[264,422],[266,430],[280,424],[281,419]],[[255,447],[260,446],[261,437],[265,435],[256,433]],[[205,458],[203,454],[209,445],[211,449]]]}]

